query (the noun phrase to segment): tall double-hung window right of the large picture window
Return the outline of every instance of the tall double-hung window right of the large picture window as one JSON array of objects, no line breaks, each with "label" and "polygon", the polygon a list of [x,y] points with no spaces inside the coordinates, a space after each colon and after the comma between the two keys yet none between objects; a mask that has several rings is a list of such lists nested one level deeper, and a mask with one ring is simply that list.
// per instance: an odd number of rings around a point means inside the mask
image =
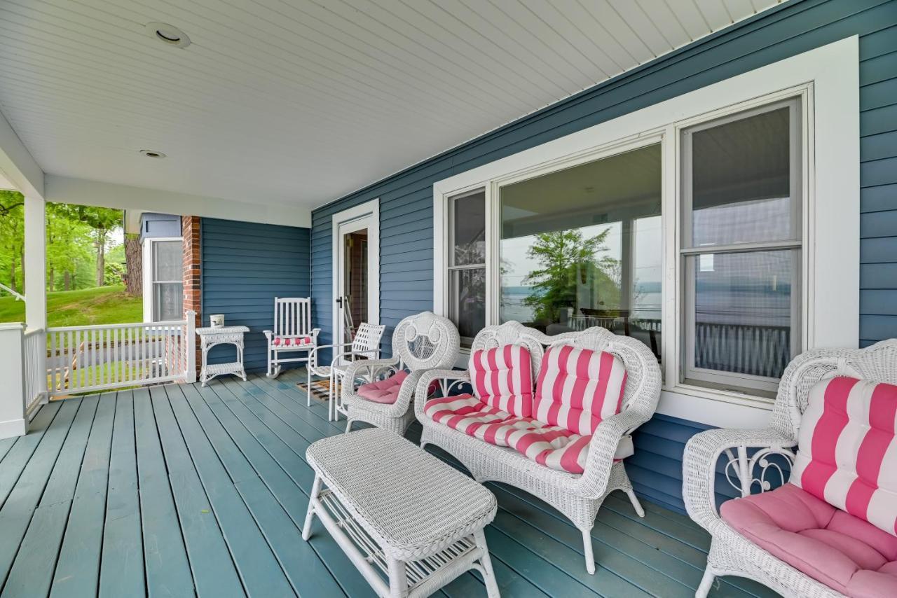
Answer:
[{"label": "tall double-hung window right of the large picture window", "polygon": [[774,393],[801,347],[799,109],[685,129],[682,379]]}]

